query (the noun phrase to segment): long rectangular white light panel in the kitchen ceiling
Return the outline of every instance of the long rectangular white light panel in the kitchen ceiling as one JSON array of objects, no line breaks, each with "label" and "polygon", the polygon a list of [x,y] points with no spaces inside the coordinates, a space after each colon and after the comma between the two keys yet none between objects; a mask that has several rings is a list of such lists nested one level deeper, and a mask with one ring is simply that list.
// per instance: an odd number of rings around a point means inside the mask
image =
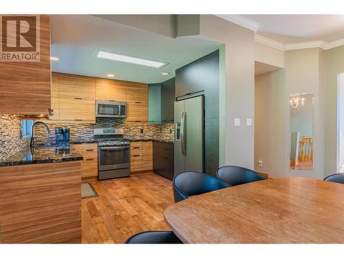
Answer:
[{"label": "long rectangular white light panel in the kitchen ceiling", "polygon": [[148,59],[137,58],[133,56],[123,56],[122,54],[114,54],[114,53],[109,53],[109,52],[104,52],[104,51],[99,51],[97,57],[110,59],[114,61],[125,62],[125,63],[134,63],[136,65],[146,65],[146,66],[155,67],[155,68],[161,68],[169,64],[169,63],[164,63],[164,62],[159,62],[159,61],[152,61]]}]

